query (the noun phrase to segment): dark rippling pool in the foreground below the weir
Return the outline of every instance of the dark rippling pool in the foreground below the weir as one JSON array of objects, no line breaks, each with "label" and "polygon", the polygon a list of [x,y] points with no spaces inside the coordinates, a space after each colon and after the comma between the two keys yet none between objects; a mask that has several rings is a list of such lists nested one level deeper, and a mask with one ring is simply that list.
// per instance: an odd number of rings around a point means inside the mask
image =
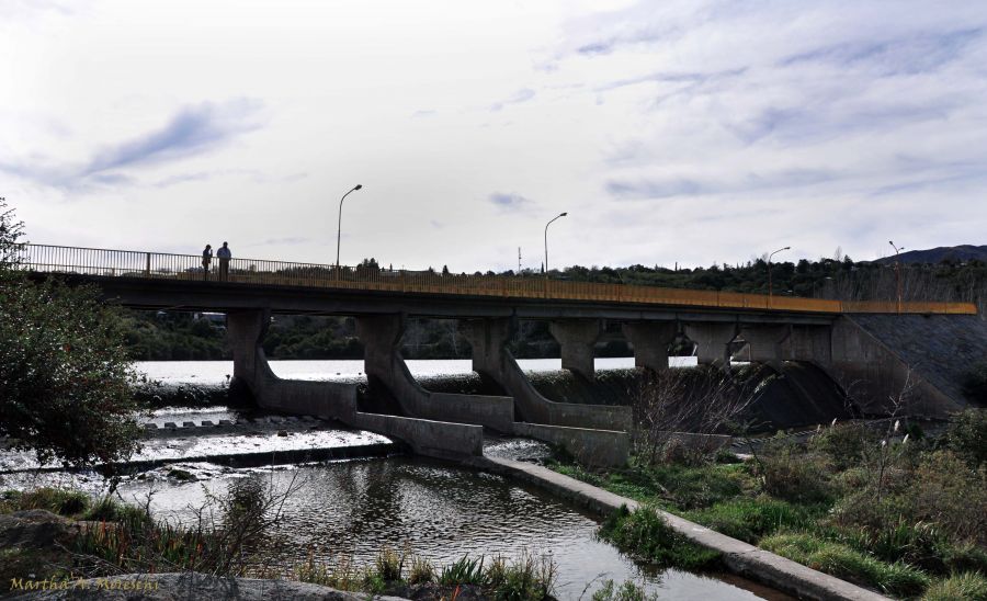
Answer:
[{"label": "dark rippling pool in the foreground below the weir", "polygon": [[558,566],[559,599],[578,599],[604,578],[633,579],[670,599],[784,598],[740,580],[639,567],[595,538],[593,518],[536,489],[444,463],[392,457],[277,470],[215,469],[207,477],[192,484],[132,480],[122,495],[144,504],[154,489],[156,515],[192,523],[192,508],[203,504],[207,492],[222,494],[238,478],[261,478],[275,491],[294,483],[298,489],[272,535],[283,549],[282,566],[304,563],[309,554],[330,564],[347,557],[367,565],[384,546],[407,545],[439,566],[464,554],[517,558],[526,551]]}]

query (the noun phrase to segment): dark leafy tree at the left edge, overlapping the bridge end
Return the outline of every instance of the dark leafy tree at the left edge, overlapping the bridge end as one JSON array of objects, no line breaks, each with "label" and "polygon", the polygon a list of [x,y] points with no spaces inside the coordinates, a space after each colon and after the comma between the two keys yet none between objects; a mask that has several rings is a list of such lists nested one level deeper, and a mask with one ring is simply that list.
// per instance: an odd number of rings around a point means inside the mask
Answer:
[{"label": "dark leafy tree at the left edge, overlapping the bridge end", "polygon": [[0,434],[43,463],[112,473],[140,433],[120,309],[16,269],[22,231],[0,200]]}]

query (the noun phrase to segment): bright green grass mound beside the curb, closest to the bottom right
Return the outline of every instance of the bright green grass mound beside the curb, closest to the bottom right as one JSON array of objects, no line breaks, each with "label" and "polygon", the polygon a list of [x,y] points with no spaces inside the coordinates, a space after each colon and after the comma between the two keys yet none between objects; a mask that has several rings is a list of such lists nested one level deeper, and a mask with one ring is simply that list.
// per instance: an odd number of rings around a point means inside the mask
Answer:
[{"label": "bright green grass mound beside the curb, closest to the bottom right", "polygon": [[889,594],[919,594],[930,582],[927,574],[904,562],[880,562],[846,545],[809,534],[776,534],[761,541],[759,546],[813,569],[870,585]]}]

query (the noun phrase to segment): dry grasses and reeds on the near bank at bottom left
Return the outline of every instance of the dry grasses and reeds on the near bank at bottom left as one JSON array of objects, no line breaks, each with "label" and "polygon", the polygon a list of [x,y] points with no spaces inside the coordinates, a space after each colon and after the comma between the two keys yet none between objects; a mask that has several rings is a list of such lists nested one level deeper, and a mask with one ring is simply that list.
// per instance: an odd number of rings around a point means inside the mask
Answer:
[{"label": "dry grasses and reeds on the near bank at bottom left", "polygon": [[[514,559],[468,557],[435,569],[410,551],[383,548],[371,565],[358,566],[348,557],[332,563],[309,555],[307,562],[279,567],[277,551],[258,545],[280,520],[284,501],[297,490],[272,494],[263,479],[237,480],[223,496],[198,508],[192,528],[179,528],[150,518],[147,508],[98,500],[73,490],[38,488],[0,495],[0,513],[43,509],[78,521],[57,541],[39,541],[0,551],[0,594],[11,578],[26,572],[36,579],[100,577],[195,570],[216,576],[290,578],[348,591],[399,594],[416,599],[451,599],[470,588],[487,599],[542,601],[553,598],[556,566],[551,558],[522,554]],[[207,517],[217,518],[213,525]],[[43,532],[52,531],[43,529]],[[56,544],[57,542],[57,544]],[[269,551],[260,551],[269,549]],[[29,569],[30,568],[30,569]],[[464,596],[465,597],[465,596]]]}]

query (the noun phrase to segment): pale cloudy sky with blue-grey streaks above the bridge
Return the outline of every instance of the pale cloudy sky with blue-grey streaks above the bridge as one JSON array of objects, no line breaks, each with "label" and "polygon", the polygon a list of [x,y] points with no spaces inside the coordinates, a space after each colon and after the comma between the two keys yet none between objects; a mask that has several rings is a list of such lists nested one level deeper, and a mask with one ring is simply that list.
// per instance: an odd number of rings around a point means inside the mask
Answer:
[{"label": "pale cloudy sky with blue-grey streaks above the bridge", "polygon": [[985,245],[987,2],[0,0],[34,243],[454,272]]}]

